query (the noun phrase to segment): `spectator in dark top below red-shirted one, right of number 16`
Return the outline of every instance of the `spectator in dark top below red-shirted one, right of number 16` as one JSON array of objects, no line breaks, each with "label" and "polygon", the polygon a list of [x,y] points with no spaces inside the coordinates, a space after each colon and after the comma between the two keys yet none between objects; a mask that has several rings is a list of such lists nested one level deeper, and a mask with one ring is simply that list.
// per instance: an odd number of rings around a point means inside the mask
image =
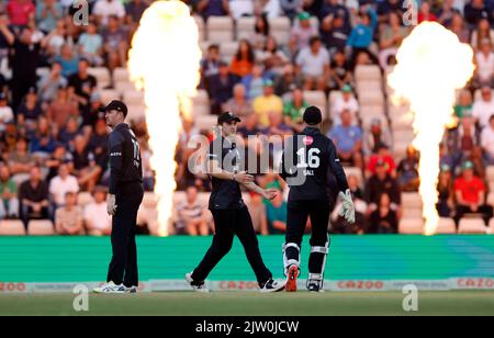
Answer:
[{"label": "spectator in dark top below red-shirted one, right of number 16", "polygon": [[388,165],[383,160],[375,164],[375,174],[371,176],[366,184],[366,201],[368,203],[368,214],[375,211],[380,204],[380,198],[386,193],[391,199],[391,209],[397,211],[400,215],[401,192],[396,179],[388,173]]}]

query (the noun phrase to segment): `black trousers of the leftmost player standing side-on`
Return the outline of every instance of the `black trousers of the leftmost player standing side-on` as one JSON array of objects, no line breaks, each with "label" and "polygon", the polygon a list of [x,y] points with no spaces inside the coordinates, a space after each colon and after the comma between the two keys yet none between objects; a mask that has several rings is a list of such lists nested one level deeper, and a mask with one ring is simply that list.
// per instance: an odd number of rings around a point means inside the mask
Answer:
[{"label": "black trousers of the leftmost player standing side-on", "polygon": [[138,286],[137,248],[135,233],[137,211],[143,201],[143,184],[133,182],[119,187],[116,193],[116,212],[112,219],[113,257],[108,269],[106,281],[127,288]]}]

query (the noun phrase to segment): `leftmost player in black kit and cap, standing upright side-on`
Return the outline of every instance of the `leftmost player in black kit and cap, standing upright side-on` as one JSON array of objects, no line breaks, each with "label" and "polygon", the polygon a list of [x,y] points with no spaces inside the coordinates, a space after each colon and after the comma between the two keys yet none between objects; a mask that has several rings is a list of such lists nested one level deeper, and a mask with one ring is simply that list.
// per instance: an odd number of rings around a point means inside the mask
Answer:
[{"label": "leftmost player in black kit and cap, standing upright side-on", "polygon": [[110,190],[108,213],[112,219],[112,251],[106,284],[97,288],[100,293],[134,293],[138,286],[137,248],[135,230],[137,211],[143,201],[143,169],[141,148],[131,127],[124,123],[127,106],[112,101],[101,108],[109,137]]}]

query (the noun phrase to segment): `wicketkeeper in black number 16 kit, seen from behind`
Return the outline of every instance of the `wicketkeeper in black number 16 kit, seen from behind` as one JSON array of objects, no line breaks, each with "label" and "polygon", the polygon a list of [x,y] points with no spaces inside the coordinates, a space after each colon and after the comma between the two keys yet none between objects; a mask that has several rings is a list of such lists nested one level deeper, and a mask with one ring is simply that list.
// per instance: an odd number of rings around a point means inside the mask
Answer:
[{"label": "wicketkeeper in black number 16 kit, seen from behind", "polygon": [[307,217],[311,217],[307,289],[318,292],[323,289],[326,255],[329,248],[329,194],[334,192],[328,191],[328,173],[336,178],[343,202],[341,216],[349,223],[355,222],[355,207],[336,147],[319,131],[323,121],[321,110],[310,106],[305,110],[303,119],[306,127],[287,142],[281,162],[281,177],[290,185],[283,264],[288,278],[285,289],[294,292],[300,274],[302,237]]}]

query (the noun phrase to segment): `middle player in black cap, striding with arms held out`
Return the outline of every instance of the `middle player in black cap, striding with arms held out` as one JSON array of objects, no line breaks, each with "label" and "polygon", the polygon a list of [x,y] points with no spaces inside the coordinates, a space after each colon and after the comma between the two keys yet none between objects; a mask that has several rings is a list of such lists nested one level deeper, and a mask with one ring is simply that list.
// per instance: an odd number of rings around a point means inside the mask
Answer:
[{"label": "middle player in black cap, striding with arms held out", "polygon": [[[265,266],[259,243],[254,230],[249,211],[242,199],[240,185],[272,200],[277,192],[263,190],[254,183],[254,177],[242,171],[243,158],[235,142],[237,123],[240,119],[231,112],[221,114],[217,125],[222,135],[210,144],[207,168],[213,184],[209,209],[213,214],[215,234],[213,244],[201,263],[192,273],[186,274],[187,282],[198,292],[209,292],[204,280],[229,251],[237,235],[244,246],[247,259],[252,268],[261,292],[283,290],[284,284],[273,281],[271,272]],[[244,161],[244,162],[243,162]]]}]

